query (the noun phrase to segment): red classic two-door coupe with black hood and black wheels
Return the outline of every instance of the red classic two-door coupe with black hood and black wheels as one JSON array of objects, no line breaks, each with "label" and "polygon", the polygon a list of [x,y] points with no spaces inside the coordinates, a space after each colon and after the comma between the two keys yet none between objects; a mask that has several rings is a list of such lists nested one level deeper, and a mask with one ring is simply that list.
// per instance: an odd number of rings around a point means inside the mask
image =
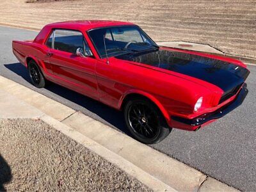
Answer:
[{"label": "red classic two-door coupe with black hood and black wheels", "polygon": [[43,88],[60,84],[123,110],[143,143],[172,128],[196,131],[239,106],[249,75],[241,61],[159,47],[130,22],[86,20],[48,24],[13,53]]}]

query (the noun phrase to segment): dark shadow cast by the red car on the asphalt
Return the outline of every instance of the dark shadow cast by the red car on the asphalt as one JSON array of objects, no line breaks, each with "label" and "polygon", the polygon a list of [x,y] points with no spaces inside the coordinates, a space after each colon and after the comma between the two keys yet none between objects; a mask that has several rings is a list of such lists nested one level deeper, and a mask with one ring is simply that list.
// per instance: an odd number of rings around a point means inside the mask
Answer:
[{"label": "dark shadow cast by the red car on the asphalt", "polygon": [[[29,84],[31,84],[28,70],[26,67],[24,67],[20,63],[11,63],[11,64],[4,64],[4,67],[8,68],[18,76],[22,77],[24,80],[26,80]],[[22,84],[22,82],[19,82]],[[28,84],[24,84],[25,86],[28,86]],[[31,87],[29,87],[31,88]],[[38,89],[32,88],[36,92]],[[113,109],[109,106],[106,106],[105,104],[102,104],[101,102],[97,100],[90,99],[89,97],[86,97],[84,95],[81,95],[77,92],[74,92],[72,90],[69,90],[63,86],[60,86],[55,83],[50,83],[48,86],[45,87],[46,90],[49,90],[50,92],[60,95],[60,97],[63,97],[67,100],[70,100],[71,102],[74,102],[75,104],[79,105],[78,111],[83,112],[83,108],[87,109],[88,112],[85,114],[88,116],[91,116],[92,118],[95,118],[99,120],[100,122],[109,125],[110,127],[113,127],[115,129],[119,129],[120,131],[124,132],[125,134],[131,136],[129,131],[126,128],[125,121],[124,121],[124,115],[122,111],[117,111],[116,109]],[[49,96],[49,95],[47,95]],[[69,104],[67,104],[70,106]],[[71,106],[70,106],[71,107]],[[82,107],[82,108],[80,108]],[[79,109],[80,108],[80,109]],[[94,114],[93,114],[94,113]],[[99,117],[97,117],[99,116]]]}]

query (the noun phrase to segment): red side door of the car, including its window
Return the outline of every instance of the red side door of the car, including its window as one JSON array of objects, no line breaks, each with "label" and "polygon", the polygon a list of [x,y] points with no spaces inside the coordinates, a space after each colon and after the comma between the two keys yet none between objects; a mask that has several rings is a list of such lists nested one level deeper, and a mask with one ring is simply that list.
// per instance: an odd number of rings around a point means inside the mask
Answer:
[{"label": "red side door of the car, including its window", "polygon": [[[55,29],[52,49],[47,55],[57,83],[76,92],[98,99],[95,64],[83,34],[80,31]],[[76,51],[83,50],[83,56]]]}]

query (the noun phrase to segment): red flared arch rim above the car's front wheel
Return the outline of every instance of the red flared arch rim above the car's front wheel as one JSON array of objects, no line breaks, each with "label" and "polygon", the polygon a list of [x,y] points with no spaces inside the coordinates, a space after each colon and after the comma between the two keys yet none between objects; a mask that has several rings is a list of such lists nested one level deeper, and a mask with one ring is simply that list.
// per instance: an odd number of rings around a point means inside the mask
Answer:
[{"label": "red flared arch rim above the car's front wheel", "polygon": [[166,119],[166,122],[170,121],[170,116],[168,115],[168,112],[166,111],[166,109],[164,108],[164,106],[161,104],[161,102],[156,99],[156,97],[154,97],[154,95],[151,95],[150,93],[147,92],[142,92],[140,90],[132,90],[126,94],[124,94],[124,96],[122,97],[122,99],[120,99],[120,102],[118,104],[118,108],[120,110],[124,109],[125,104],[131,100],[134,99],[136,97],[140,97],[143,99],[147,99],[150,102],[152,102],[154,105],[156,105],[156,107],[159,109],[159,111],[162,113],[162,115],[164,116],[164,118]]}]

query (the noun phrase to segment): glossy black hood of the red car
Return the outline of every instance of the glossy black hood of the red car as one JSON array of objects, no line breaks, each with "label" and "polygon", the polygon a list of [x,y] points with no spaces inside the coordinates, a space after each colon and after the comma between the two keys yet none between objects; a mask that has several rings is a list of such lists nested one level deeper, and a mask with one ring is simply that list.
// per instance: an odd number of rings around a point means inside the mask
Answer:
[{"label": "glossy black hood of the red car", "polygon": [[188,52],[158,50],[125,54],[116,58],[195,77],[218,86],[224,92],[243,84],[250,74],[249,70],[234,63]]}]

